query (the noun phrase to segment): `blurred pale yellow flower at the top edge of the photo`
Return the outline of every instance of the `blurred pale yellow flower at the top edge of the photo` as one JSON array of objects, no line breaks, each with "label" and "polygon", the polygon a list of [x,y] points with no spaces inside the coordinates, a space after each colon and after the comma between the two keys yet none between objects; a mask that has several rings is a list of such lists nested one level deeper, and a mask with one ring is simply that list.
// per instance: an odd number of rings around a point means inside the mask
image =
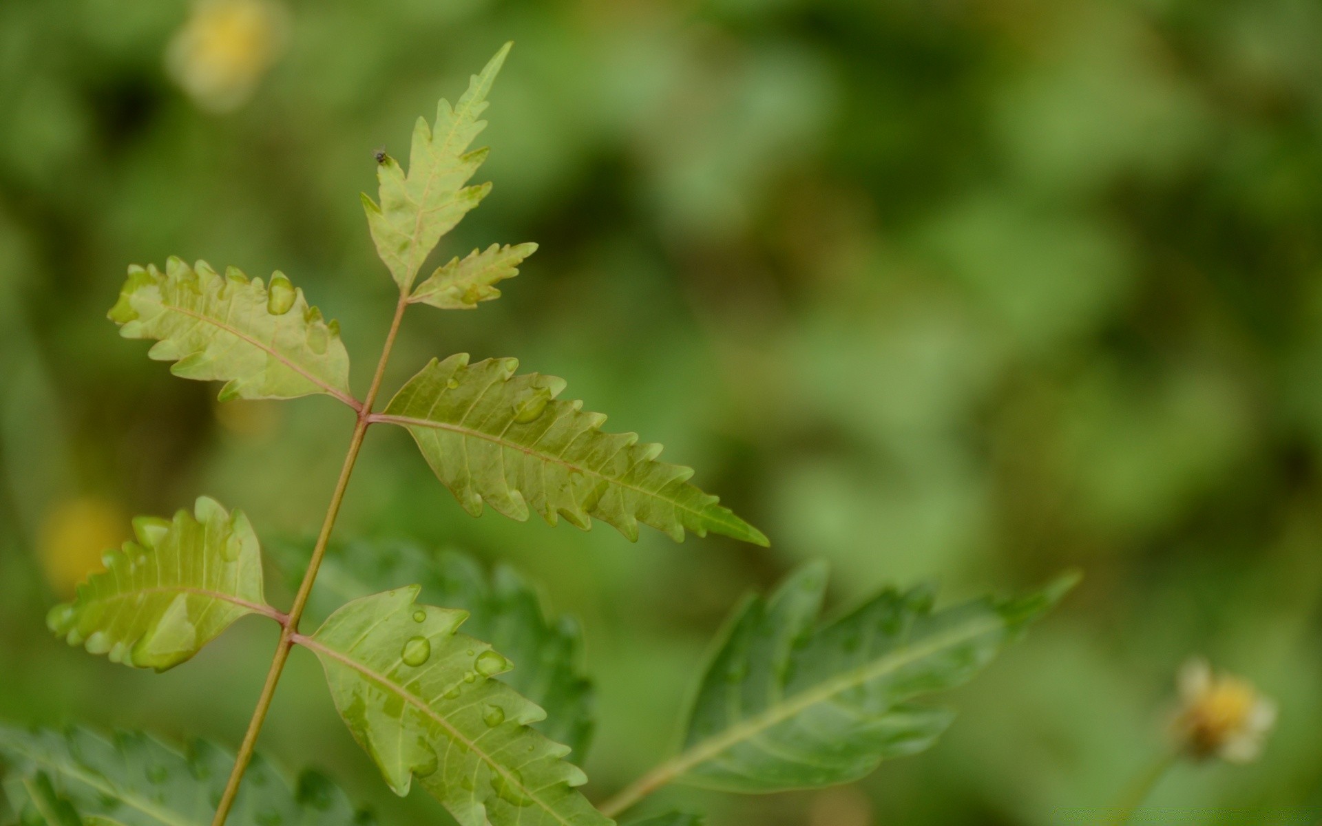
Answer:
[{"label": "blurred pale yellow flower at the top edge of the photo", "polygon": [[165,52],[165,66],[198,106],[238,108],[284,49],[287,15],[274,0],[200,0]]}]

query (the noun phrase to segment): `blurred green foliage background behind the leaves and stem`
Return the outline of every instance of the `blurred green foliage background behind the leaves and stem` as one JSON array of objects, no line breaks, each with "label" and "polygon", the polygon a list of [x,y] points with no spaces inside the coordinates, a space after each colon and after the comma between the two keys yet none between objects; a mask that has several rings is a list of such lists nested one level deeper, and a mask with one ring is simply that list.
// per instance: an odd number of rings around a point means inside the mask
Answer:
[{"label": "blurred green foliage background behind the leaves and stem", "polygon": [[[350,415],[218,406],[106,309],[128,263],[280,268],[361,385],[394,300],[371,151],[406,156],[514,40],[496,188],[440,254],[541,251],[497,303],[410,316],[389,382],[518,356],[772,548],[475,521],[379,431],[340,531],[510,560],[582,619],[592,797],[672,748],[738,597],[825,556],[837,605],[1087,579],[952,698],[933,751],[857,788],[660,802],[714,826],[1097,822],[1203,653],[1281,727],[1251,767],[1178,768],[1140,822],[1322,818],[1315,1],[230,1],[0,3],[0,718],[237,745],[274,629],[156,677],[57,642],[45,609],[132,514],[202,493],[311,531]],[[311,656],[260,748],[383,823],[449,822],[389,794]]]}]

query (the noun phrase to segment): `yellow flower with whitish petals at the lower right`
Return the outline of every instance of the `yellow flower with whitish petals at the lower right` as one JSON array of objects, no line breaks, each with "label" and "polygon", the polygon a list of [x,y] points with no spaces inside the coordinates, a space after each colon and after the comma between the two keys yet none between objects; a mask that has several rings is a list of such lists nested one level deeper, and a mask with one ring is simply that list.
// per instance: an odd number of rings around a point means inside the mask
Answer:
[{"label": "yellow flower with whitish petals at the lower right", "polygon": [[1175,736],[1181,748],[1196,759],[1249,763],[1261,753],[1263,740],[1276,723],[1276,703],[1245,679],[1214,674],[1200,658],[1181,669],[1179,699]]}]

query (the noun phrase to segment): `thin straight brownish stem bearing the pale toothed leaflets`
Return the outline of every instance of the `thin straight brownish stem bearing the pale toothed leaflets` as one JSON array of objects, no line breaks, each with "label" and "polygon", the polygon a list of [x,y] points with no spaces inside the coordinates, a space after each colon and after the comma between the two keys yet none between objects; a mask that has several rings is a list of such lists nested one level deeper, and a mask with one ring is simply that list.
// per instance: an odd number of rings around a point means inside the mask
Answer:
[{"label": "thin straight brownish stem bearing the pale toothed leaflets", "polygon": [[330,505],[327,507],[325,519],[321,521],[321,533],[317,534],[317,543],[312,548],[312,559],[308,560],[308,570],[299,584],[299,592],[293,597],[293,607],[290,608],[290,616],[282,624],[280,641],[276,644],[275,657],[271,658],[271,669],[266,674],[266,685],[262,686],[262,695],[256,700],[253,719],[249,720],[247,732],[243,735],[243,744],[239,747],[239,753],[234,760],[230,780],[225,784],[225,793],[221,796],[221,802],[215,807],[215,817],[212,819],[212,826],[225,825],[225,819],[234,806],[234,798],[239,793],[243,773],[253,761],[253,749],[256,745],[256,737],[262,732],[262,724],[266,722],[267,712],[271,710],[275,687],[280,682],[284,663],[290,658],[290,649],[293,648],[293,636],[299,633],[299,620],[303,619],[303,611],[308,605],[312,585],[317,579],[317,570],[321,567],[321,559],[325,558],[327,544],[330,541],[330,533],[334,530],[336,517],[340,515],[340,505],[344,502],[344,492],[349,488],[349,476],[353,473],[354,463],[358,461],[362,437],[368,432],[368,427],[371,426],[371,406],[377,402],[377,393],[381,391],[381,379],[386,374],[386,363],[390,361],[390,352],[395,346],[395,336],[399,334],[399,322],[403,320],[407,307],[408,295],[401,292],[399,303],[395,304],[395,316],[390,321],[390,332],[386,333],[386,344],[381,348],[381,359],[377,361],[377,371],[371,377],[371,386],[368,389],[368,395],[362,399],[362,407],[358,408],[358,420],[353,427],[353,436],[349,439],[349,451],[345,453],[344,465],[340,468],[340,478],[336,481],[334,492],[330,494]]}]

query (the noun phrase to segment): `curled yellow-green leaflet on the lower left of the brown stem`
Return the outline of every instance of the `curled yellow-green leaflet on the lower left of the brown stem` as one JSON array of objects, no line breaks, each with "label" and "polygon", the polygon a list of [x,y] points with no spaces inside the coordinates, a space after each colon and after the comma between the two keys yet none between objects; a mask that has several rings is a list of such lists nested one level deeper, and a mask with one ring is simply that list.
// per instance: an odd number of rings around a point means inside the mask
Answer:
[{"label": "curled yellow-green leaflet on the lower left of the brown stem", "polygon": [[106,571],[78,585],[46,622],[69,645],[114,662],[173,667],[250,613],[276,617],[262,588],[262,551],[241,510],[201,497],[194,514],[134,519],[137,542],[106,551]]}]

